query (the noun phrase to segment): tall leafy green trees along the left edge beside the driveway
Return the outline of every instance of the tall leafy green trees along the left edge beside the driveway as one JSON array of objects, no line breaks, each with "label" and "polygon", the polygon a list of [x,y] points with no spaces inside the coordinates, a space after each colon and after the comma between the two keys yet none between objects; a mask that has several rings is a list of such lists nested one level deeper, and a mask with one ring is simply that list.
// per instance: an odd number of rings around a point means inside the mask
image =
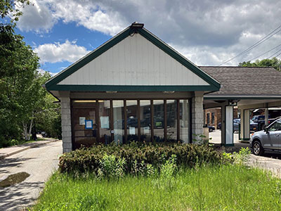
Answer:
[{"label": "tall leafy green trees along the left edge beside the driveway", "polygon": [[29,140],[34,121],[49,134],[60,134],[59,105],[41,86],[51,75],[39,74],[37,54],[14,31],[22,14],[17,8],[27,4],[0,0],[0,147],[22,139],[22,134]]}]

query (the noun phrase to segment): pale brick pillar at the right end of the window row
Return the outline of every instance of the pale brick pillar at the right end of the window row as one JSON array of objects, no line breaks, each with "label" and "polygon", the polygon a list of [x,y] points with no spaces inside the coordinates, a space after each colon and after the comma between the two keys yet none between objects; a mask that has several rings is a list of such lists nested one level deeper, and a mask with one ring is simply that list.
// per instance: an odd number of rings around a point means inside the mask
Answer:
[{"label": "pale brick pillar at the right end of the window row", "polygon": [[191,121],[191,132],[192,139],[196,139],[196,135],[203,134],[203,121],[204,121],[204,113],[203,113],[203,95],[194,96],[191,99],[192,101],[192,121]]}]

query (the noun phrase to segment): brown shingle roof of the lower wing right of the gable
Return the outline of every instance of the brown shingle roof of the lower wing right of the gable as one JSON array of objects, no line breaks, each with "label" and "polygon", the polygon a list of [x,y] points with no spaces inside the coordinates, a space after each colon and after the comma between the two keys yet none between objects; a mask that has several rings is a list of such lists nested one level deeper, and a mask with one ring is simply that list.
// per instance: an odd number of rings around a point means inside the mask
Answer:
[{"label": "brown shingle roof of the lower wing right of the gable", "polygon": [[210,67],[201,70],[221,83],[221,89],[209,95],[280,95],[281,72],[274,68]]}]

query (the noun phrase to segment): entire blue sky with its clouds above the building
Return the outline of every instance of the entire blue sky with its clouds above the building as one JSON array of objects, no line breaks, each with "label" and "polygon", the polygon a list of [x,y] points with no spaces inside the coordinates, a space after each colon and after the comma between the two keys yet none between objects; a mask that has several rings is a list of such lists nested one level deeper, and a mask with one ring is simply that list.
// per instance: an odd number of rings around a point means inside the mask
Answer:
[{"label": "entire blue sky with its clouds above the building", "polygon": [[[196,65],[218,65],[277,28],[278,0],[32,0],[16,32],[38,53],[41,69],[60,72],[134,21]],[[237,65],[273,49],[281,32],[225,65]],[[281,46],[259,59],[277,56]],[[280,58],[280,56],[278,57]]]}]

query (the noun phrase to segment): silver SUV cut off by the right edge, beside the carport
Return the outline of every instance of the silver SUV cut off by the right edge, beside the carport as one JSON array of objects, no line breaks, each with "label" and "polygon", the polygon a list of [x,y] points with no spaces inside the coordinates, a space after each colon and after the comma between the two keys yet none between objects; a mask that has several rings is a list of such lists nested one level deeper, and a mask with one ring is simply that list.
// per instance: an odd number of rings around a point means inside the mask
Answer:
[{"label": "silver SUV cut off by the right edge, beside the carport", "polygon": [[250,138],[250,147],[254,155],[262,155],[264,151],[281,151],[281,118],[275,120],[264,130],[255,132]]}]

